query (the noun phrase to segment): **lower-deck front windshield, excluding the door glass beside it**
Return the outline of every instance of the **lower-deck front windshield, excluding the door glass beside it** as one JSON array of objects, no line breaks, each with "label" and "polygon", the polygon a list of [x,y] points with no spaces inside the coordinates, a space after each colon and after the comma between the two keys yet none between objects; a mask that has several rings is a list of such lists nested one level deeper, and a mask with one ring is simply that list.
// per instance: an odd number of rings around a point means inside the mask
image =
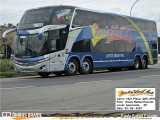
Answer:
[{"label": "lower-deck front windshield, excluding the door glass beside it", "polygon": [[47,53],[47,37],[42,40],[38,39],[38,34],[29,36],[17,36],[15,43],[15,57],[33,58]]}]

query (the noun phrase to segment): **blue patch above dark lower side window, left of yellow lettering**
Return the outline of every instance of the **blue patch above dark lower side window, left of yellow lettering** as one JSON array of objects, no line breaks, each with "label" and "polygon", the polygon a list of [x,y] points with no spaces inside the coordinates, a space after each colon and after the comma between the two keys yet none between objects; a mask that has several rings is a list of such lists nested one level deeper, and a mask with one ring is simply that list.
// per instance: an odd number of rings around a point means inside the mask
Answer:
[{"label": "blue patch above dark lower side window, left of yellow lettering", "polygon": [[92,39],[93,35],[92,35],[92,28],[84,28],[81,30],[81,32],[79,33],[76,41],[80,41],[80,40],[86,40],[86,39]]}]

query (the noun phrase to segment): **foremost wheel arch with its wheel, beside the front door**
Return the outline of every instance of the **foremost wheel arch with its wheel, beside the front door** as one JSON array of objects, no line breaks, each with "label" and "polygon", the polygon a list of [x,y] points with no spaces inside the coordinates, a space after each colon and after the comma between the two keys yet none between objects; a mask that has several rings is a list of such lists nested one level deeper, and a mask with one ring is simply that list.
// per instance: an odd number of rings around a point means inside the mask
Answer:
[{"label": "foremost wheel arch with its wheel, beside the front door", "polygon": [[72,57],[67,63],[66,75],[76,75],[80,66],[80,61],[78,57]]}]

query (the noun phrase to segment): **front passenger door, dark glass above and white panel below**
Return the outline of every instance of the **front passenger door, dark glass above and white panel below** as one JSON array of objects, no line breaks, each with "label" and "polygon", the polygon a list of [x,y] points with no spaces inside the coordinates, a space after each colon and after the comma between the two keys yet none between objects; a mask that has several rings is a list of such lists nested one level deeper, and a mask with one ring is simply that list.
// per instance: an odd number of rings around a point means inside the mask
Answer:
[{"label": "front passenger door, dark glass above and white panel below", "polygon": [[53,30],[49,35],[50,71],[63,71],[68,28]]}]

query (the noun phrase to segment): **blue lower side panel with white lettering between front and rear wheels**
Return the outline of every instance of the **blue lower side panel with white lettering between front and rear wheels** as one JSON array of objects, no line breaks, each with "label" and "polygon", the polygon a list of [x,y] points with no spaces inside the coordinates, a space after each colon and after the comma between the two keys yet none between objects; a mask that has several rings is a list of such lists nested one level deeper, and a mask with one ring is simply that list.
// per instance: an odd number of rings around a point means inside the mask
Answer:
[{"label": "blue lower side panel with white lettering between front and rear wheels", "polygon": [[[147,52],[146,52],[147,54]],[[131,66],[134,61],[134,56],[136,53],[130,52],[98,52],[98,53],[70,53],[68,56],[68,61],[72,57],[77,57],[80,60],[80,64],[82,65],[82,61],[84,60],[84,56],[92,56],[93,59],[93,68],[111,68],[111,67],[127,67]],[[99,59],[101,58],[101,59]],[[127,58],[127,59],[126,59]],[[67,64],[65,66],[65,70],[67,70]]]}]

